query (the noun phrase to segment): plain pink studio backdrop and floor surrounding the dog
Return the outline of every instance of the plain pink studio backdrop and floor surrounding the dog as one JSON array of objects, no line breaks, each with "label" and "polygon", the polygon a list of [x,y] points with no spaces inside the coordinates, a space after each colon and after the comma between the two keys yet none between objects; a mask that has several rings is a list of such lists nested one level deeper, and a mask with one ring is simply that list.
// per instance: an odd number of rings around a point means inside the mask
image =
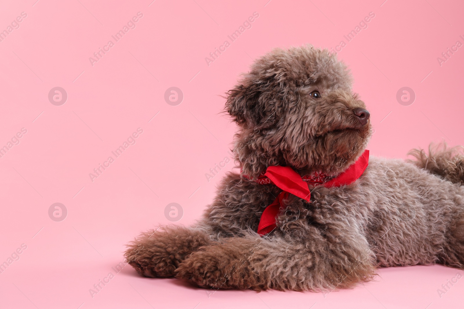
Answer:
[{"label": "plain pink studio backdrop and floor surrounding the dog", "polygon": [[[25,244],[0,274],[1,308],[456,308],[464,271],[436,266],[380,269],[377,280],[330,294],[198,289],[175,279],[138,276],[122,261],[139,231],[168,224],[168,203],[183,208],[177,224],[199,218],[229,163],[205,173],[231,147],[236,126],[220,114],[239,73],[273,47],[305,43],[335,48],[369,12],[375,17],[339,52],[354,91],[371,112],[372,155],[406,158],[413,147],[445,140],[464,145],[464,43],[461,1],[2,1],[0,30],[27,17],[0,42],[0,147],[27,133],[0,158],[0,263]],[[116,3],[115,3],[116,2]],[[137,12],[143,17],[97,62]],[[227,35],[259,17],[235,41]],[[208,66],[205,57],[231,45]],[[53,87],[68,95],[48,100]],[[184,95],[164,100],[169,87]],[[412,105],[396,100],[401,87]],[[155,118],[153,118],[156,115]],[[151,121],[150,121],[151,120]],[[121,157],[92,182],[89,173],[142,128]],[[14,139],[13,139],[14,140]],[[64,221],[48,209],[63,203]],[[39,232],[39,233],[38,233]],[[112,272],[94,297],[89,289]],[[209,293],[209,294],[208,294]],[[441,296],[441,297],[440,297]],[[459,304],[459,305],[458,305]],[[81,306],[81,307],[79,307]],[[195,307],[196,306],[196,307]],[[428,306],[428,307],[427,307]]]}]

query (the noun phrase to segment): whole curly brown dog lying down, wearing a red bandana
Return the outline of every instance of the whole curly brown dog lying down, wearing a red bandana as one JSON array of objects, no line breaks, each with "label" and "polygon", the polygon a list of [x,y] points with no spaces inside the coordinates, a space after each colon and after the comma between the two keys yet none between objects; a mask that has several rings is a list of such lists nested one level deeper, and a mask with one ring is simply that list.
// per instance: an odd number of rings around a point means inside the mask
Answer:
[{"label": "whole curly brown dog lying down, wearing a red bandana", "polygon": [[367,161],[369,113],[351,87],[328,50],[259,58],[227,93],[241,173],[224,177],[197,224],[142,233],[127,262],[205,288],[298,291],[353,287],[380,266],[464,268],[463,153]]}]

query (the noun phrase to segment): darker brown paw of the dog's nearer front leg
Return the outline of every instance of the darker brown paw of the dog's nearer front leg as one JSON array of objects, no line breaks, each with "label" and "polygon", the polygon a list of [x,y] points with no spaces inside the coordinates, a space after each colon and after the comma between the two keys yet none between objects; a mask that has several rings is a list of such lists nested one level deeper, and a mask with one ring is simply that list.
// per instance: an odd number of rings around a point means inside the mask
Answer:
[{"label": "darker brown paw of the dog's nearer front leg", "polygon": [[202,288],[263,290],[250,262],[239,256],[240,252],[229,252],[219,244],[205,246],[180,263],[175,277]]}]

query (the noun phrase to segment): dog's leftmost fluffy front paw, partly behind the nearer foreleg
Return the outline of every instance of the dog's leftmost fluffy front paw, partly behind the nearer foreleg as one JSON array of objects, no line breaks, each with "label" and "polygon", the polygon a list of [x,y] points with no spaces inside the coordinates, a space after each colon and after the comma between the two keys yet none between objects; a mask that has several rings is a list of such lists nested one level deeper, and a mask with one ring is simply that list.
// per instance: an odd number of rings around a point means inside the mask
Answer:
[{"label": "dog's leftmost fluffy front paw, partly behind the nearer foreleg", "polygon": [[173,277],[179,263],[211,240],[206,227],[163,226],[127,245],[126,261],[145,277]]}]

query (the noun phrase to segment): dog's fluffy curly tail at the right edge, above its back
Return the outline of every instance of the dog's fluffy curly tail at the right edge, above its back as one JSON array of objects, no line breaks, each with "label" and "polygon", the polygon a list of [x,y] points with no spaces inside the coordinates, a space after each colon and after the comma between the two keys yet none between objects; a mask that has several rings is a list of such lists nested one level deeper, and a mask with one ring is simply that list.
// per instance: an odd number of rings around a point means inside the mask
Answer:
[{"label": "dog's fluffy curly tail at the right edge, above its back", "polygon": [[464,185],[464,153],[463,147],[447,148],[446,144],[433,148],[429,146],[429,153],[424,149],[413,149],[408,154],[416,158],[410,162],[420,168],[429,170],[452,183]]}]

